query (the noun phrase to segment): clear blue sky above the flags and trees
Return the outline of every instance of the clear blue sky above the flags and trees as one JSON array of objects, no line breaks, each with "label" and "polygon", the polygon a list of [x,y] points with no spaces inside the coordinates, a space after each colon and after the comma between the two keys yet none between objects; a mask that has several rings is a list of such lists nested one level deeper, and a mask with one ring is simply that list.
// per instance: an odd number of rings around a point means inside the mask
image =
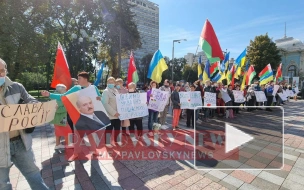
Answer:
[{"label": "clear blue sky above the flags and trees", "polygon": [[303,0],[150,0],[159,5],[159,49],[172,58],[196,52],[206,19],[217,34],[223,51],[230,58],[239,54],[255,36],[268,33],[273,40],[294,37],[304,41]]}]

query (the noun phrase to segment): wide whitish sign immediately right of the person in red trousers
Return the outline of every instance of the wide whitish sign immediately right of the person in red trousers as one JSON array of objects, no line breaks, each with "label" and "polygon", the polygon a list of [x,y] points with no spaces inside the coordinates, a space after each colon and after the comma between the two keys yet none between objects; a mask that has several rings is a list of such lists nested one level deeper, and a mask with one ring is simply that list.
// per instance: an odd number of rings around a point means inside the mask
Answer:
[{"label": "wide whitish sign immediately right of the person in red trousers", "polygon": [[179,100],[181,109],[195,109],[203,105],[201,93],[198,91],[179,92]]}]

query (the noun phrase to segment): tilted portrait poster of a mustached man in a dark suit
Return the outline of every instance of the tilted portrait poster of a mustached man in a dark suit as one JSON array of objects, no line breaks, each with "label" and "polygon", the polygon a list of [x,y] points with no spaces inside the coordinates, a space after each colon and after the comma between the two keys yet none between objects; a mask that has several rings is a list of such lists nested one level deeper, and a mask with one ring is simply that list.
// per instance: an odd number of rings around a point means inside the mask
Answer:
[{"label": "tilted portrait poster of a mustached man in a dark suit", "polygon": [[95,86],[90,85],[61,98],[76,130],[93,132],[111,125],[96,90],[98,89]]}]

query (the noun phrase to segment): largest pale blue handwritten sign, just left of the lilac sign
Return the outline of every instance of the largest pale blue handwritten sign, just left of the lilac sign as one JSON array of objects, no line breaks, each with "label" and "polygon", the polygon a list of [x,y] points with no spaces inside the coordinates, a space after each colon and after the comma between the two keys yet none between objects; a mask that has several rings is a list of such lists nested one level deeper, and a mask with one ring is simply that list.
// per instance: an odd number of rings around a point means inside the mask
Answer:
[{"label": "largest pale blue handwritten sign, just left of the lilac sign", "polygon": [[144,117],[149,114],[146,93],[118,94],[116,102],[120,120]]}]

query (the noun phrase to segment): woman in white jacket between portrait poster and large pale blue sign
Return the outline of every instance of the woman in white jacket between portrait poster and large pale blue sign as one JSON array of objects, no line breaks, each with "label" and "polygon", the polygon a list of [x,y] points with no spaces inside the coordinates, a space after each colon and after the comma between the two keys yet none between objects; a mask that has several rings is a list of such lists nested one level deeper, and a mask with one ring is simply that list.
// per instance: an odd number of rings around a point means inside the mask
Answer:
[{"label": "woman in white jacket between portrait poster and large pale blue sign", "polygon": [[118,136],[120,132],[120,119],[119,113],[117,111],[117,102],[116,102],[116,96],[119,94],[117,89],[115,89],[115,78],[109,77],[107,80],[107,88],[102,93],[102,104],[105,108],[105,110],[108,113],[108,116],[111,120],[111,125],[106,127],[106,133],[105,133],[105,142],[107,146],[110,146],[111,139],[108,139],[108,135],[112,134],[112,131],[114,129],[114,142],[118,143]]}]

